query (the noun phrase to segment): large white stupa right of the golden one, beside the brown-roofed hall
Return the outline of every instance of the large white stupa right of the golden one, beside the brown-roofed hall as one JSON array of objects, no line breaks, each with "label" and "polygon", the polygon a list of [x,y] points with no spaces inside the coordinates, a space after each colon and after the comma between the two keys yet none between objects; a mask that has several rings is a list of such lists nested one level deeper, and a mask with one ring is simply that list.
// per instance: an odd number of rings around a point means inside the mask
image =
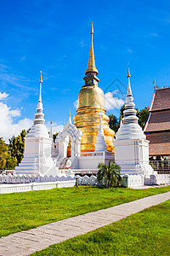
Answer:
[{"label": "large white stupa right of the golden one, beside the brown-roofed hall", "polygon": [[115,160],[121,166],[122,174],[142,174],[150,177],[153,169],[149,165],[149,141],[139,126],[134,109],[133,93],[130,86],[130,72],[127,72],[128,87],[122,125],[116,133]]}]

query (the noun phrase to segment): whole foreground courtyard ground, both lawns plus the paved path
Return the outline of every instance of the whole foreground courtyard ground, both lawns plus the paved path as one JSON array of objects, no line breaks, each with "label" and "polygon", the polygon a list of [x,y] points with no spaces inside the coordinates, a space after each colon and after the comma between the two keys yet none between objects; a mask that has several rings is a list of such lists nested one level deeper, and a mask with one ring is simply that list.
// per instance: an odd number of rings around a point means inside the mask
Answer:
[{"label": "whole foreground courtyard ground, both lawns plus the paved path", "polygon": [[[169,255],[170,192],[167,191],[170,186],[79,187],[0,195],[1,231],[6,236],[0,239],[0,255],[27,255],[60,241],[64,242],[36,254]],[[163,201],[167,202],[156,206]],[[144,210],[148,207],[151,208]],[[86,212],[91,213],[80,215]],[[136,212],[139,213],[133,214]],[[42,224],[46,225],[31,229]],[[100,228],[104,225],[108,226]],[[20,230],[28,231],[7,236]],[[74,236],[78,237],[67,240]]]}]

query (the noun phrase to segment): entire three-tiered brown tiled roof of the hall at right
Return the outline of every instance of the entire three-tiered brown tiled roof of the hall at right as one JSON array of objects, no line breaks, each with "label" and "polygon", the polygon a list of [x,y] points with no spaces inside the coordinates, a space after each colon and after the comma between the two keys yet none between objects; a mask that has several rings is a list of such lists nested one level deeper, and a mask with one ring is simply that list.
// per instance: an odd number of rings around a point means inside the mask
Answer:
[{"label": "entire three-tiered brown tiled roof of the hall at right", "polygon": [[149,154],[167,155],[170,154],[170,87],[156,90],[152,101],[145,129],[150,141]]}]

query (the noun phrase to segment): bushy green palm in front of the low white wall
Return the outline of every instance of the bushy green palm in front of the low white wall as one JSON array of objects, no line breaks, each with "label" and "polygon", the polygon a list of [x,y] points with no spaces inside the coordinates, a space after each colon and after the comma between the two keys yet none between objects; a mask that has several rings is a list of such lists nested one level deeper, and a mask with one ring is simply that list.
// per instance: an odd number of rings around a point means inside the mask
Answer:
[{"label": "bushy green palm in front of the low white wall", "polygon": [[99,183],[105,184],[105,188],[115,187],[121,183],[121,167],[116,165],[115,161],[109,160],[107,166],[104,163],[99,163],[98,168],[97,179]]}]

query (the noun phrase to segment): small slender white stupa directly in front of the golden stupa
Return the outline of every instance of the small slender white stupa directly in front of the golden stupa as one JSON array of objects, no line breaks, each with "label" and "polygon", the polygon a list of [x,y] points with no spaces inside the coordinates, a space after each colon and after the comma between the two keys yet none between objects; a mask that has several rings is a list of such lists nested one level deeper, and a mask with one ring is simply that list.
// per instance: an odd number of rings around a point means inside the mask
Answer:
[{"label": "small slender white stupa directly in front of the golden stupa", "polygon": [[96,143],[95,143],[95,152],[99,152],[99,151],[106,151],[105,134],[104,134],[102,119],[101,119],[101,110],[100,110],[100,119],[99,119],[99,131],[98,131],[98,135],[96,137]]}]

